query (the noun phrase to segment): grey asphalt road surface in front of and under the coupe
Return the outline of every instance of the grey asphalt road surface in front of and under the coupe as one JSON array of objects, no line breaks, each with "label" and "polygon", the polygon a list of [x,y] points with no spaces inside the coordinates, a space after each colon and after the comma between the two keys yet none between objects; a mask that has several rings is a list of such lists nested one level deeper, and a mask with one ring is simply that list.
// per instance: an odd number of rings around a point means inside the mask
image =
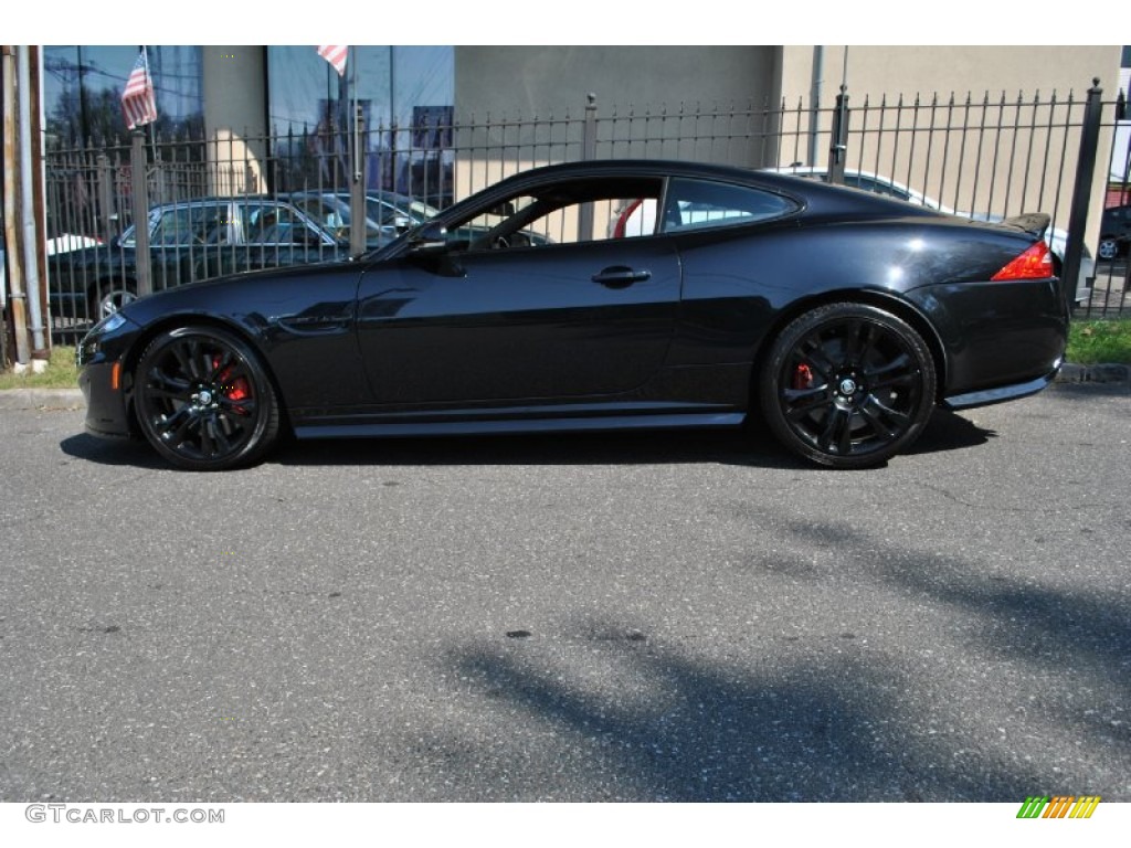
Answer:
[{"label": "grey asphalt road surface in front of and under the coupe", "polygon": [[1129,415],[207,475],[0,409],[0,801],[1131,801]]}]

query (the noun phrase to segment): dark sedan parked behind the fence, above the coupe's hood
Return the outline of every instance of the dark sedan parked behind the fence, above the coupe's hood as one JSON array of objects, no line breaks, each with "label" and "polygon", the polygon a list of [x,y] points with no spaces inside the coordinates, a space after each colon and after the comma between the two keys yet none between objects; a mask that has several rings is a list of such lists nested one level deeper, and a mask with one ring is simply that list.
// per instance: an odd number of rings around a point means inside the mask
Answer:
[{"label": "dark sedan parked behind the fence, above the coupe's hood", "polygon": [[[268,197],[196,198],[149,210],[149,268],[159,292],[234,271],[346,257],[348,239]],[[97,320],[138,295],[135,226],[110,244],[51,257],[52,312]]]}]

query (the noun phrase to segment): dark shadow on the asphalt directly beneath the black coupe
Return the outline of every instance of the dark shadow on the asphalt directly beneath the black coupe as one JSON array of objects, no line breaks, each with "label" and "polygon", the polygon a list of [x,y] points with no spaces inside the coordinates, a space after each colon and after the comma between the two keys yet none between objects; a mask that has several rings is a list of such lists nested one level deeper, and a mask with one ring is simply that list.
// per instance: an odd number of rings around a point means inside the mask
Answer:
[{"label": "dark shadow on the asphalt directly beneath the black coupe", "polygon": [[[993,438],[953,413],[936,410],[910,453],[936,453],[984,444]],[[169,466],[140,441],[103,440],[86,433],[60,442],[63,453],[110,466]],[[330,439],[285,443],[268,455],[282,466],[468,465],[670,465],[714,462],[757,468],[811,468],[777,444],[760,422],[741,430],[515,434],[431,439]]]}]

